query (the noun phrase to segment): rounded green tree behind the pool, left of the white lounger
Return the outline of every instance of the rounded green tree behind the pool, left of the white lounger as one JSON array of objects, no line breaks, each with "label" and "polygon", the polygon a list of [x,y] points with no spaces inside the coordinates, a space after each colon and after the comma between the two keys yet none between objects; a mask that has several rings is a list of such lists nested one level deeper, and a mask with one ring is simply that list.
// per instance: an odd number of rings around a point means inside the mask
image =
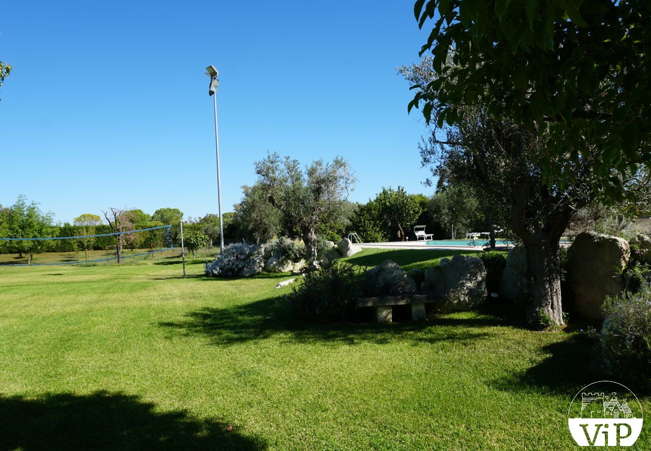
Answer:
[{"label": "rounded green tree behind the pool, left of the white lounger", "polygon": [[402,186],[394,190],[382,188],[382,192],[375,198],[381,217],[385,218],[390,225],[397,229],[396,238],[404,241],[407,237],[405,229],[409,230],[418,217],[422,209],[418,200],[409,196]]}]

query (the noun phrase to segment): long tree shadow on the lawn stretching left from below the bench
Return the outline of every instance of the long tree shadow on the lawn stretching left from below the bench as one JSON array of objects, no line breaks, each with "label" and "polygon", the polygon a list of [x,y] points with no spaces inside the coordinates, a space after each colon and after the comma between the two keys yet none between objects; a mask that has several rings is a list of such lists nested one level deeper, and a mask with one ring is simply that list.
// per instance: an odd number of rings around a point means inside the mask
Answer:
[{"label": "long tree shadow on the lawn stretching left from below the bench", "polygon": [[[370,313],[370,309],[366,313]],[[426,322],[415,322],[408,320],[408,312],[396,308],[394,319],[406,321],[391,324],[300,321],[292,315],[288,302],[277,297],[230,308],[206,307],[187,313],[184,321],[159,323],[159,326],[186,335],[207,336],[217,345],[232,345],[283,335],[292,342],[391,343],[396,339],[426,343],[465,342],[492,336],[490,332],[475,332],[469,327],[503,324],[499,317],[492,315],[436,317]]]}]

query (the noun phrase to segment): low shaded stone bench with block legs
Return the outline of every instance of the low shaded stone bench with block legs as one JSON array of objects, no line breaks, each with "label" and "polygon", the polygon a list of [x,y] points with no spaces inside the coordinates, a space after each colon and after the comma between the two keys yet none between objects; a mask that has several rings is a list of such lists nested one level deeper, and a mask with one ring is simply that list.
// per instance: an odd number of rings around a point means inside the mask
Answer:
[{"label": "low shaded stone bench with block legs", "polygon": [[378,323],[391,323],[393,306],[410,305],[411,319],[418,321],[425,319],[425,304],[442,301],[443,295],[436,291],[410,291],[393,295],[359,298],[357,308],[372,307]]}]

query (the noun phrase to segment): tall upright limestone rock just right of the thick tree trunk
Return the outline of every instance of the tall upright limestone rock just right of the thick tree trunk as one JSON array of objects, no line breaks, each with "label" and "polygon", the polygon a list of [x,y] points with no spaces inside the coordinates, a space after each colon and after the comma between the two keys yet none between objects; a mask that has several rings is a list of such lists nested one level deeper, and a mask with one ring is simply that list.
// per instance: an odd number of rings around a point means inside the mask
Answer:
[{"label": "tall upright limestone rock just right of the thick tree trunk", "polygon": [[626,240],[599,233],[577,235],[568,250],[568,281],[576,309],[590,319],[603,319],[606,296],[624,290],[621,272],[631,255]]}]

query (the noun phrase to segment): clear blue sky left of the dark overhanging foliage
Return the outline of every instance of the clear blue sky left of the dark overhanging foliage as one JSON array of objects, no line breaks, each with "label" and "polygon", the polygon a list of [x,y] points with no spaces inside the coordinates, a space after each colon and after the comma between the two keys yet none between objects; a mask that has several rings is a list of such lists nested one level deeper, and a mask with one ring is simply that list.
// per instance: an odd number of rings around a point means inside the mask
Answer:
[{"label": "clear blue sky left of the dark overhanging foliage", "polygon": [[216,212],[210,64],[223,211],[268,150],[344,156],[353,201],[398,184],[431,194],[424,124],[395,69],[426,37],[412,1],[5,1],[0,203],[25,194],[60,221],[111,206]]}]

